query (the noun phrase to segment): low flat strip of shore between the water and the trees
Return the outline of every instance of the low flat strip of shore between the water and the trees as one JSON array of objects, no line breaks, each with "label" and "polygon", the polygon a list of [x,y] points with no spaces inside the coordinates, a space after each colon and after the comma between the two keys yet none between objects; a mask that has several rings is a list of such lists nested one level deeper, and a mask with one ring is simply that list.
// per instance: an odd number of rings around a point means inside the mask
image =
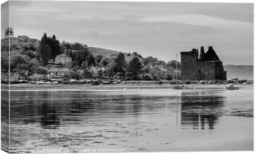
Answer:
[{"label": "low flat strip of shore between the water and the trees", "polygon": [[[225,89],[226,84],[183,84],[185,89]],[[252,84],[235,84],[235,86],[239,86],[239,88],[253,88]],[[130,81],[130,82],[121,82],[117,84],[109,84],[109,85],[91,85],[91,84],[74,84],[74,85],[32,85],[29,83],[18,83],[10,85],[10,90],[65,90],[65,89],[78,89],[78,90],[107,90],[107,89],[152,89],[152,88],[173,88],[173,85],[170,83],[162,83],[159,84],[157,81],[151,82],[143,82],[143,81]],[[1,89],[8,89],[7,84],[1,84]]]}]

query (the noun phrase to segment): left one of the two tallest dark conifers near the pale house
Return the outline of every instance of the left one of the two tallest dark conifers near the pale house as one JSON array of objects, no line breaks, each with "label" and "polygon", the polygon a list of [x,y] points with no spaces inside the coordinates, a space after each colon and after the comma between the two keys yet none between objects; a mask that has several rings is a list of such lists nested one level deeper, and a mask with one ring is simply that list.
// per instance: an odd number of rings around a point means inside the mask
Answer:
[{"label": "left one of the two tallest dark conifers near the pale house", "polygon": [[45,66],[45,64],[48,62],[50,57],[52,57],[52,50],[49,46],[49,41],[46,33],[44,33],[43,37],[41,38],[41,41],[39,44],[39,52],[41,55],[42,63]]}]

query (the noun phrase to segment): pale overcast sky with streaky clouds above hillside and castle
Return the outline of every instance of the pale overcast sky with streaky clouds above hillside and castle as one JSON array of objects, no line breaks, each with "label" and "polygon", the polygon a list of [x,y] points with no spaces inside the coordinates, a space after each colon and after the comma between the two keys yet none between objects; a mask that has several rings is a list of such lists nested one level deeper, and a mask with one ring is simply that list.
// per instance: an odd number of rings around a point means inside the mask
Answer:
[{"label": "pale overcast sky with streaky clouds above hillside and castle", "polygon": [[180,60],[180,51],[213,46],[223,64],[253,65],[248,3],[11,1],[10,26],[15,37],[40,39],[46,32],[60,42],[136,51],[166,62],[176,53]]}]

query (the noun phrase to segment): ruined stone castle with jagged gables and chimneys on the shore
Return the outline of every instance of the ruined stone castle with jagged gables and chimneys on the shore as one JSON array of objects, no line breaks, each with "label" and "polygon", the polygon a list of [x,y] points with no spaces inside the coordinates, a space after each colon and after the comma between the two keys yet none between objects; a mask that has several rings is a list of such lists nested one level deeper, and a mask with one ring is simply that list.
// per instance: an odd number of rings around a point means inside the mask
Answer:
[{"label": "ruined stone castle with jagged gables and chimneys on the shore", "polygon": [[195,48],[180,55],[182,80],[227,80],[227,72],[212,46],[206,53],[201,46],[200,55]]}]

